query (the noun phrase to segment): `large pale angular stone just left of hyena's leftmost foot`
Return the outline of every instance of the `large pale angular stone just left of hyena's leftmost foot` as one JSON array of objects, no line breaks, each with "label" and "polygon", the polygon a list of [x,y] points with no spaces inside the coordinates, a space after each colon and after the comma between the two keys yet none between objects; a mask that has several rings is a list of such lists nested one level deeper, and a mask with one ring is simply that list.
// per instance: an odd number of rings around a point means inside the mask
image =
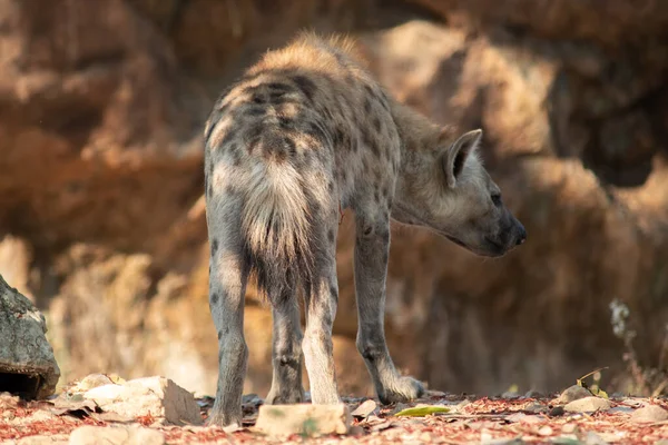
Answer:
[{"label": "large pale angular stone just left of hyena's leftmost foot", "polygon": [[174,425],[203,423],[193,394],[165,377],[145,377],[121,385],[98,386],[84,393],[84,398],[95,400],[102,411],[121,416],[137,418],[150,415],[159,423]]}]

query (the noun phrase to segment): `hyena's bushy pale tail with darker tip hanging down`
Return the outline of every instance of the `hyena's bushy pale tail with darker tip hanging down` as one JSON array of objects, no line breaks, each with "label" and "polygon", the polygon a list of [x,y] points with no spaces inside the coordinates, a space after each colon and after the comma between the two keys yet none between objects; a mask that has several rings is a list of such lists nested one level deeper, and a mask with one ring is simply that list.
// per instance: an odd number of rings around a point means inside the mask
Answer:
[{"label": "hyena's bushy pale tail with darker tip hanging down", "polygon": [[313,215],[303,177],[288,165],[253,175],[242,215],[246,253],[259,293],[269,301],[308,291],[314,269]]}]

